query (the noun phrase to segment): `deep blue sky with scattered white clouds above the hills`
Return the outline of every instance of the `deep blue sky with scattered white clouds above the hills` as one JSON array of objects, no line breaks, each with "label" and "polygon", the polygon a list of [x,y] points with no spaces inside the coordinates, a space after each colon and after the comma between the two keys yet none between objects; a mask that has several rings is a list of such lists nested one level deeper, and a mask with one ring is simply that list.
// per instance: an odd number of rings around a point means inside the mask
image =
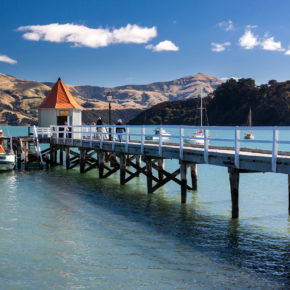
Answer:
[{"label": "deep blue sky with scattered white clouds above the hills", "polygon": [[0,72],[113,87],[290,79],[290,1],[0,0]]}]

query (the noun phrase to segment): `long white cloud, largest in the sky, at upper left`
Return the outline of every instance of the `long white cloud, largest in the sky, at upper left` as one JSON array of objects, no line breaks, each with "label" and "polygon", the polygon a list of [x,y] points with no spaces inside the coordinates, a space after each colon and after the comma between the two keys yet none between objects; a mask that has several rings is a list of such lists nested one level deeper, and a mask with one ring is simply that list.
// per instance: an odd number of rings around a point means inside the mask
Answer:
[{"label": "long white cloud, largest in the sky, at upper left", "polygon": [[147,43],[157,36],[157,28],[127,24],[121,28],[89,28],[72,23],[21,26],[23,38],[32,41],[68,42],[75,46],[105,47],[113,43]]}]

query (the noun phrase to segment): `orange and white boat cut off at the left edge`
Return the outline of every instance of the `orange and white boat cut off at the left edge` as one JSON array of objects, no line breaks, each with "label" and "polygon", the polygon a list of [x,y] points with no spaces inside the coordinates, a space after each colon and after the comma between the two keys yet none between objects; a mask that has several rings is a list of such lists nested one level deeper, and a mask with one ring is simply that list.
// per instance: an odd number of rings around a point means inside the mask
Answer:
[{"label": "orange and white boat cut off at the left edge", "polygon": [[[6,141],[10,139],[10,148],[7,148]],[[0,171],[12,170],[15,166],[16,158],[12,150],[12,138],[4,137],[0,130]]]}]

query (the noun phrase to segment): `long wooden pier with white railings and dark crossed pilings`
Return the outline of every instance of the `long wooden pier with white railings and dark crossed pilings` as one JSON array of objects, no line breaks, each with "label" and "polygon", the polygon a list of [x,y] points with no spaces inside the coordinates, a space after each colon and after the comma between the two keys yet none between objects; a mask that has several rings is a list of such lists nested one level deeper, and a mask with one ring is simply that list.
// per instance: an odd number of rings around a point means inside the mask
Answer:
[{"label": "long wooden pier with white railings and dark crossed pilings", "polygon": [[[288,175],[288,213],[290,214],[290,152],[278,151],[279,144],[290,145],[290,141],[278,140],[278,132],[279,130],[290,131],[290,127],[258,128],[259,130],[270,130],[273,139],[250,141],[257,144],[271,143],[272,150],[241,148],[240,143],[246,141],[240,139],[240,131],[247,128],[204,127],[204,144],[198,145],[184,142],[185,139],[188,140],[188,136],[184,135],[184,130],[188,127],[169,126],[178,129],[179,134],[172,136],[172,141],[166,140],[166,142],[163,141],[165,136],[162,133],[159,133],[157,142],[146,140],[150,134],[145,134],[145,129],[148,131],[149,128],[152,131],[153,127],[150,126],[126,126],[126,132],[122,134],[123,141],[119,142],[116,138],[119,134],[116,133],[117,127],[111,126],[111,138],[108,138],[108,133],[98,132],[96,126],[37,128],[34,130],[34,138],[39,139],[39,143],[49,145],[49,148],[40,154],[46,167],[63,165],[65,160],[67,169],[79,166],[82,174],[98,168],[99,178],[107,178],[119,171],[122,185],[143,174],[146,176],[147,191],[150,194],[173,181],[180,186],[182,203],[186,203],[188,190],[197,190],[198,164],[227,167],[233,218],[239,216],[240,174],[284,173]],[[191,129],[200,128],[192,127]],[[210,138],[209,130],[232,130],[234,137],[232,139]],[[136,133],[136,131],[140,133]],[[64,132],[69,132],[69,134]],[[194,137],[192,138],[194,139]],[[234,146],[209,144],[214,141],[232,142]],[[178,168],[173,172],[166,170],[165,161],[168,159],[179,161]],[[189,170],[190,174],[188,174]],[[190,182],[188,176],[190,176]]]}]

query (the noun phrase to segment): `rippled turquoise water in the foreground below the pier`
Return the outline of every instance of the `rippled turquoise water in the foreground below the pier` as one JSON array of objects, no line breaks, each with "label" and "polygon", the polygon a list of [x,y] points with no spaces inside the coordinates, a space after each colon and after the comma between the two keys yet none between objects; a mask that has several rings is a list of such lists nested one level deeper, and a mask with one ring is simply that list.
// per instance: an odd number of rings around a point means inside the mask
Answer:
[{"label": "rippled turquoise water in the foreground below the pier", "polygon": [[198,166],[186,205],[174,183],[148,195],[143,177],[121,186],[118,173],[97,176],[61,167],[0,174],[0,288],[290,286],[286,175],[242,175],[239,220],[230,218],[226,168]]}]

